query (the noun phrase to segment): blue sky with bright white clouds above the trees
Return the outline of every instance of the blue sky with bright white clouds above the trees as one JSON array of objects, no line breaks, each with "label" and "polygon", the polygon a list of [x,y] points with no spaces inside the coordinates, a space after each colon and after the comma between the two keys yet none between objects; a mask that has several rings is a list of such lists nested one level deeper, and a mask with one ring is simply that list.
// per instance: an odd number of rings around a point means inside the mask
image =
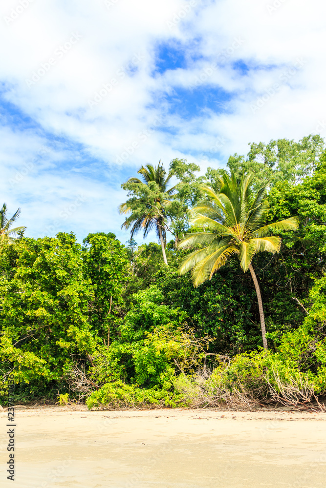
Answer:
[{"label": "blue sky with bright white clouds above the trees", "polygon": [[322,0],[1,0],[0,203],[28,237],[125,243],[141,165],[325,137],[325,18]]}]

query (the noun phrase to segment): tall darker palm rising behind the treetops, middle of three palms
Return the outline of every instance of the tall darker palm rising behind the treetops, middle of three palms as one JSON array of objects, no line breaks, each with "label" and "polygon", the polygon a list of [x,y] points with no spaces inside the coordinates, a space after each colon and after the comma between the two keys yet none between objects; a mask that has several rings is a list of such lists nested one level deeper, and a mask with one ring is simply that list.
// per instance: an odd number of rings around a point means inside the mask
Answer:
[{"label": "tall darker palm rising behind the treetops, middle of three palms", "polygon": [[[121,228],[125,227],[126,229],[129,229],[132,225],[130,239],[132,239],[133,235],[141,229],[144,230],[143,235],[145,238],[147,234],[153,228],[155,228],[157,237],[162,246],[164,263],[167,265],[168,261],[165,253],[167,217],[165,214],[165,208],[169,203],[171,203],[169,197],[175,193],[175,186],[168,189],[168,183],[172,178],[173,173],[170,172],[167,175],[161,161],[159,161],[157,167],[153,166],[152,164],[146,164],[145,167],[142,166],[138,173],[142,175],[143,181],[139,180],[138,178],[130,178],[125,183],[126,187],[128,187],[130,183],[148,186],[151,185],[151,183],[156,183],[156,187],[151,199],[145,199],[145,197],[140,196],[138,199],[136,199],[134,204],[131,204],[129,201],[122,203],[119,206],[120,214],[131,213],[131,215],[126,218],[126,221],[122,224]],[[139,206],[142,209],[140,213],[137,211],[137,207]]]}]

